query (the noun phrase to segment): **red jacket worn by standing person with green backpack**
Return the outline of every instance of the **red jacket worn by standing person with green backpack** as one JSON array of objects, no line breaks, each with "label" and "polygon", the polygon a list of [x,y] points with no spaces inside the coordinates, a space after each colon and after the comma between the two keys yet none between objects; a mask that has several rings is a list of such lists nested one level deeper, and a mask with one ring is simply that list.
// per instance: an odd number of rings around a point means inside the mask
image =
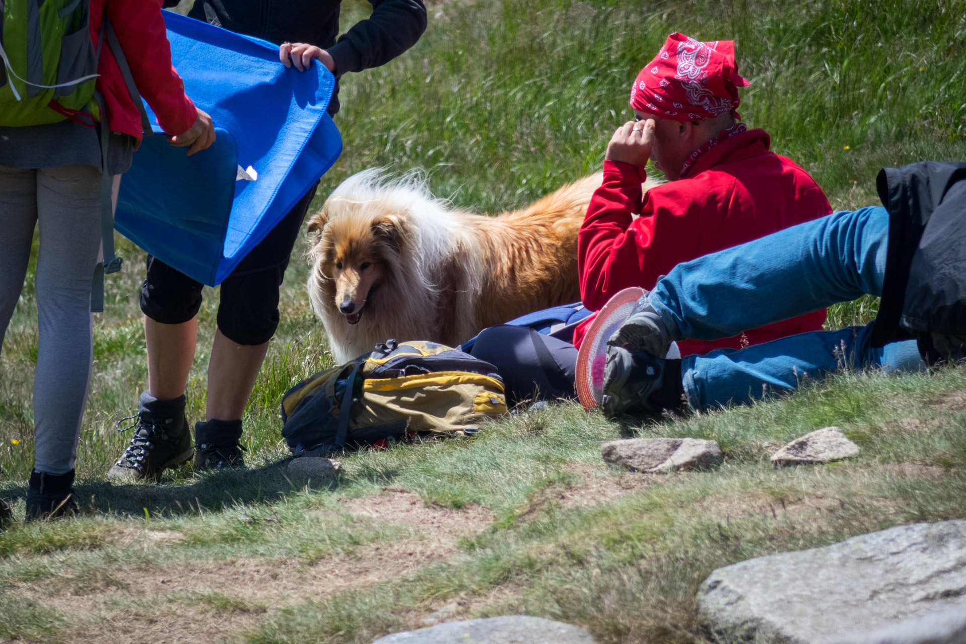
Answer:
[{"label": "red jacket worn by standing person with green backpack", "polygon": [[[92,0],[91,38],[98,45],[104,7],[128,59],[134,84],[168,134],[181,134],[198,118],[185,96],[185,84],[171,67],[171,44],[161,17],[161,0]],[[107,39],[100,50],[98,91],[104,97],[111,131],[141,139],[141,115],[128,94],[121,68]]]}]

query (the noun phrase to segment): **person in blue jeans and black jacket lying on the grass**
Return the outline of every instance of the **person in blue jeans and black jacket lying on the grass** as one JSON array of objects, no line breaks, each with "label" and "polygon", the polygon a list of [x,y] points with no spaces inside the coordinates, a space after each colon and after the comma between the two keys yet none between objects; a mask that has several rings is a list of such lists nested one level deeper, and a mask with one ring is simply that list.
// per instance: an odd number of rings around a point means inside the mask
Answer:
[{"label": "person in blue jeans and black jacket lying on the grass", "polygon": [[[877,187],[884,207],[836,212],[658,280],[608,340],[605,414],[747,404],[843,368],[966,359],[966,163],[890,168]],[[671,341],[724,338],[863,294],[882,297],[866,326],[664,359]]]}]

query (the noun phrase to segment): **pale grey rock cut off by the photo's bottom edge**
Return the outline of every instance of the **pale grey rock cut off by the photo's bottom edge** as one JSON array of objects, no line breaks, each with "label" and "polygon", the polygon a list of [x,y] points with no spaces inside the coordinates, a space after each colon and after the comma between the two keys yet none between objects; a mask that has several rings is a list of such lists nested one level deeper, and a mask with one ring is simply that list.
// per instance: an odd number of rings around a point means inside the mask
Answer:
[{"label": "pale grey rock cut off by the photo's bottom edge", "polygon": [[446,622],[430,629],[407,630],[372,644],[595,644],[583,629],[542,617],[507,615]]}]

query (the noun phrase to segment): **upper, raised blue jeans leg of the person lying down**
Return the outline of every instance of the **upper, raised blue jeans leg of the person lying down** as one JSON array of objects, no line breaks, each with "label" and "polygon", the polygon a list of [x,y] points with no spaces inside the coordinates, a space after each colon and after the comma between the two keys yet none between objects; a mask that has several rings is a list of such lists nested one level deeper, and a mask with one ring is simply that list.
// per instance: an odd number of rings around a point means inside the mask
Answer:
[{"label": "upper, raised blue jeans leg of the person lying down", "polygon": [[886,209],[843,210],[675,266],[649,295],[674,340],[717,340],[882,294]]}]

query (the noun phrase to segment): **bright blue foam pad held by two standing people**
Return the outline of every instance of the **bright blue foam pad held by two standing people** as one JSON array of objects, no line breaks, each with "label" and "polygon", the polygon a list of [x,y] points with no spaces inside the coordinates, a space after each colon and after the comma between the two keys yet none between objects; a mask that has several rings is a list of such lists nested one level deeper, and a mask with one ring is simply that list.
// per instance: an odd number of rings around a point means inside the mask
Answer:
[{"label": "bright blue foam pad held by two standing people", "polygon": [[[292,210],[342,152],[326,113],[335,78],[318,61],[287,69],[278,47],[163,12],[185,93],[212,116],[217,136],[188,156],[144,139],[121,181],[114,226],[199,282],[214,286]],[[236,181],[238,166],[257,181]]]}]

